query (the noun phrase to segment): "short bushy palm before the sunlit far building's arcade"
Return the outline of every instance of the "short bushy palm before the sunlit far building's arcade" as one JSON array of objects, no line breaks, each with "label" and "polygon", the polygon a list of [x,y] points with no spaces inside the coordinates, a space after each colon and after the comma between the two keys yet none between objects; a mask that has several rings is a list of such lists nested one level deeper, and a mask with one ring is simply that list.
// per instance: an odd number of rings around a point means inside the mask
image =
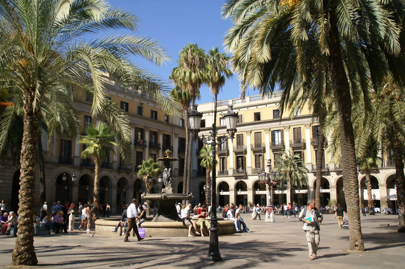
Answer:
[{"label": "short bushy palm before the sunlit far building's arcade", "polygon": [[308,169],[301,160],[299,154],[291,155],[289,151],[283,149],[282,156],[276,159],[275,171],[280,171],[280,185],[284,182],[290,187],[290,202],[294,200],[294,186],[302,187],[308,185]]}]

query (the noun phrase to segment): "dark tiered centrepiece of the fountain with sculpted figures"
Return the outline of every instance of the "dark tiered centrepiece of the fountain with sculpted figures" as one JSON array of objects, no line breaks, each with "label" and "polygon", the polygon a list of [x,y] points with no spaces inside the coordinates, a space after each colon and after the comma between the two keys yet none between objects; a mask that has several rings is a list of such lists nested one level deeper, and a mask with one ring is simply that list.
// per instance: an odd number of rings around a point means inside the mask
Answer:
[{"label": "dark tiered centrepiece of the fountain with sculpted figures", "polygon": [[165,151],[166,157],[158,158],[158,161],[163,162],[163,178],[162,183],[164,188],[160,194],[145,194],[141,195],[142,199],[159,201],[158,214],[152,219],[153,222],[175,222],[181,221],[177,215],[176,202],[179,200],[191,200],[194,198],[191,192],[188,194],[173,193],[171,187],[172,183],[172,162],[176,162],[179,159],[171,158],[171,151],[167,149]]}]

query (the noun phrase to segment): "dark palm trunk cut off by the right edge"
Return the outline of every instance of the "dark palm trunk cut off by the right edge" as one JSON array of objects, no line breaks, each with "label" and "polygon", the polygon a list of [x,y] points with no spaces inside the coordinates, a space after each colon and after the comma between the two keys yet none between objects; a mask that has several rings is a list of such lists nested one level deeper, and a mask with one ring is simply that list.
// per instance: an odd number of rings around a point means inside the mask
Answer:
[{"label": "dark palm trunk cut off by the right edge", "polygon": [[[391,117],[392,119],[393,117]],[[404,176],[404,163],[403,163],[403,149],[397,134],[397,126],[392,122],[392,151],[394,151],[395,162],[395,184],[396,184],[396,197],[399,209],[398,214],[398,232],[405,233],[405,176]]]}]

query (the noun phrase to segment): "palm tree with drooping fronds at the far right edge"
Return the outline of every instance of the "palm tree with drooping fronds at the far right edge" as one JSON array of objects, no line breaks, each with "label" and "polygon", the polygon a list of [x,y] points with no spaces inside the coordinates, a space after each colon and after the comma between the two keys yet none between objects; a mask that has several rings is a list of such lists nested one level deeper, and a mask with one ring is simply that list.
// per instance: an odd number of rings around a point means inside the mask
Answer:
[{"label": "palm tree with drooping fronds at the far right edge", "polygon": [[399,209],[398,232],[405,232],[405,176],[404,176],[404,145],[405,145],[405,90],[388,76],[383,83],[381,94],[377,95],[375,107],[375,139],[383,153],[387,150],[394,153],[396,196]]}]

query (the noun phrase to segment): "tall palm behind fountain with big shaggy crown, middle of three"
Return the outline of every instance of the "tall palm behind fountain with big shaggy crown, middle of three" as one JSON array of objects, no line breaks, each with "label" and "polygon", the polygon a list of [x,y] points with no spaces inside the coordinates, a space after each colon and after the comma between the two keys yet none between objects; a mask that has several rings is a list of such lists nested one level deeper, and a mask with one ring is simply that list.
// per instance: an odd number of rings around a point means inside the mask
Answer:
[{"label": "tall palm behind fountain with big shaggy crown, middle of three", "polygon": [[[189,43],[180,50],[177,65],[178,68],[173,69],[170,79],[175,86],[179,86],[181,90],[188,91],[191,96],[191,102],[194,105],[195,100],[200,96],[201,85],[207,81],[207,56],[204,49],[198,47],[197,44]],[[184,118],[184,120],[187,121],[188,119]],[[188,124],[186,132],[189,132]],[[185,143],[188,145],[187,159],[185,159],[187,166],[184,171],[187,180],[183,180],[183,193],[189,193],[192,144],[191,140],[187,140],[187,138]]]}]

